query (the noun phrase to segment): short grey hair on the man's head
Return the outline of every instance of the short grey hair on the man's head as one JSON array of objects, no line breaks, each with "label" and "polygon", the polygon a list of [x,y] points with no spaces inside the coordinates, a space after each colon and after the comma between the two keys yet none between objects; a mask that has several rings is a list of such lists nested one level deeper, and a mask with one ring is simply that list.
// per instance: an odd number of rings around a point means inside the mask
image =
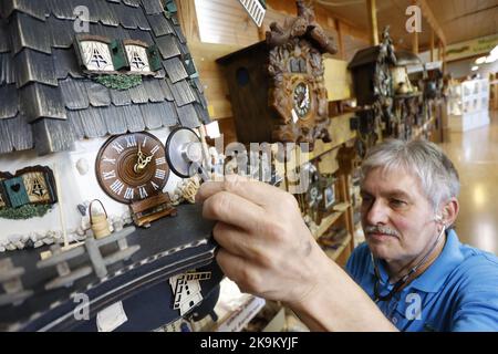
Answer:
[{"label": "short grey hair on the man's head", "polygon": [[456,198],[460,190],[455,166],[436,144],[427,140],[388,139],[372,147],[362,163],[363,178],[378,167],[404,169],[417,177],[435,210],[440,202]]}]

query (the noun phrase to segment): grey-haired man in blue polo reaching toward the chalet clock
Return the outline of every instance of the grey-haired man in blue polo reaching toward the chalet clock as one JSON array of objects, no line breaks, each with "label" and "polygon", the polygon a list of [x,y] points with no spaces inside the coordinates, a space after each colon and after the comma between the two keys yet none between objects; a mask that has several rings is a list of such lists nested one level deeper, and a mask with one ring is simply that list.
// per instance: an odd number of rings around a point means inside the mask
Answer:
[{"label": "grey-haired man in blue polo reaching toward the chalet clock", "polygon": [[452,229],[458,174],[434,144],[390,140],[362,164],[366,242],[331,261],[294,198],[227,178],[198,194],[217,260],[242,291],[283,301],[311,330],[497,331],[498,259]]}]

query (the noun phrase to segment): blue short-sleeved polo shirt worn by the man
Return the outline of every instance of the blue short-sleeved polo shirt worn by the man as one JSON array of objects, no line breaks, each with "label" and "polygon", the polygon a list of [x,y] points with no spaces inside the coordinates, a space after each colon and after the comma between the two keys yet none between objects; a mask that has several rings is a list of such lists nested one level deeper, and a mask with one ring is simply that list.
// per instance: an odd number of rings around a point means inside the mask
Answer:
[{"label": "blue short-sleeved polo shirt worn by the man", "polygon": [[[378,309],[400,331],[498,331],[498,258],[460,243],[447,232],[443,252],[433,264]],[[387,272],[377,261],[378,290],[387,294]],[[366,242],[347,260],[346,271],[374,300],[376,281]]]}]

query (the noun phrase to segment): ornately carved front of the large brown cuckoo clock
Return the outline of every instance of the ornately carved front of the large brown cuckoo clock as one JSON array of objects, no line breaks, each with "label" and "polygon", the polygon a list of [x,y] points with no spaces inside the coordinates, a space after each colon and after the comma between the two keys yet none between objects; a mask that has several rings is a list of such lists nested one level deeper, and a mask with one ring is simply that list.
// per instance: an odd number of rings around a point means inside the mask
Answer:
[{"label": "ornately carved front of the large brown cuckoo clock", "polygon": [[323,80],[322,53],[336,52],[317,23],[312,6],[297,1],[298,18],[283,27],[271,23],[267,32],[270,105],[279,114],[272,138],[279,142],[330,142],[328,98]]}]

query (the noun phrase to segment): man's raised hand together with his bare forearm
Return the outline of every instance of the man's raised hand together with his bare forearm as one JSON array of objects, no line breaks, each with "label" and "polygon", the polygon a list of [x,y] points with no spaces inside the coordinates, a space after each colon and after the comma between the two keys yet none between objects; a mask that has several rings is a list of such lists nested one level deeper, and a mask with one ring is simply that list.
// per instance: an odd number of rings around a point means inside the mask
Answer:
[{"label": "man's raised hand together with his bare forearm", "polygon": [[366,293],[313,240],[292,195],[227,176],[204,184],[218,264],[243,292],[284,302],[312,331],[392,331]]}]

